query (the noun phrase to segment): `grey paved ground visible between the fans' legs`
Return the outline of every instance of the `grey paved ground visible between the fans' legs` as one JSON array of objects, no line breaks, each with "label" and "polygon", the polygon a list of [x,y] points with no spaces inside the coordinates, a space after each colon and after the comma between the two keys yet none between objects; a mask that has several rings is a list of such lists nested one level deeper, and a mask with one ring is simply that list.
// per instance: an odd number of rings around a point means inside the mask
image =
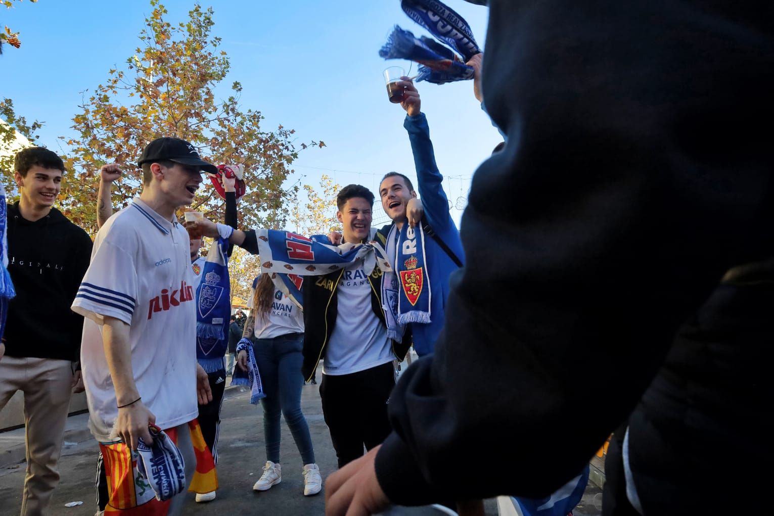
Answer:
[{"label": "grey paved ground visible between the fans' legs", "polygon": [[[317,375],[320,378],[320,374]],[[323,475],[336,468],[336,456],[330,445],[330,436],[320,408],[317,385],[305,385],[301,405],[310,425],[317,463]],[[226,391],[221,423],[220,444],[217,466],[220,489],[217,499],[208,504],[197,504],[190,496],[187,516],[195,514],[324,514],[324,494],[314,497],[303,496],[301,458],[283,422],[282,462],[283,481],[268,491],[257,493],[252,484],[258,480],[265,463],[263,448],[262,414],[259,407],[249,404],[248,392],[238,388]],[[98,446],[91,436],[84,432],[86,415],[70,418],[60,460],[62,479],[54,492],[50,514],[59,516],[91,516],[94,504],[94,470]],[[15,436],[0,434],[0,457],[8,452],[9,443],[18,441]],[[5,439],[4,439],[5,438]],[[23,435],[22,435],[23,438]],[[23,443],[23,440],[22,440]],[[22,456],[23,457],[23,456]],[[461,458],[460,473],[469,461]],[[25,464],[0,469],[0,516],[19,514]],[[70,501],[83,501],[77,507],[65,507]],[[575,511],[576,516],[598,516],[601,507],[601,493],[589,484],[584,501]],[[494,501],[487,501],[488,515],[497,514]]]}]

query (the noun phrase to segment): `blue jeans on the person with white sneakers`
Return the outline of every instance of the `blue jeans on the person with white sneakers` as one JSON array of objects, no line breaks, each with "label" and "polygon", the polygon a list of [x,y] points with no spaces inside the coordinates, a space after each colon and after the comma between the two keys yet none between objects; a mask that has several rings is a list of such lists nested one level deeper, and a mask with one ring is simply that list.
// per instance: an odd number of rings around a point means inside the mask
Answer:
[{"label": "blue jeans on the person with white sneakers", "polygon": [[255,339],[252,344],[266,395],[261,400],[266,460],[273,463],[279,463],[280,412],[285,416],[303,463],[315,462],[309,425],[301,412],[302,346],[302,333],[288,333],[273,339]]}]

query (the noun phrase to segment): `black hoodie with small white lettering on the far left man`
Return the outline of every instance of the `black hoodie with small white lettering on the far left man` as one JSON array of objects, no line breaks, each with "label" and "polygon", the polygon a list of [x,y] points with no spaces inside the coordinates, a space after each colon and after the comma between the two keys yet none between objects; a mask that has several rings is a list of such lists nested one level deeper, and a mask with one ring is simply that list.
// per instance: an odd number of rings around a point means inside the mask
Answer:
[{"label": "black hoodie with small white lettering on the far left man", "polygon": [[31,222],[8,205],[8,271],[16,297],[5,326],[5,354],[77,361],[84,318],[70,309],[91,260],[86,231],[51,208]]}]

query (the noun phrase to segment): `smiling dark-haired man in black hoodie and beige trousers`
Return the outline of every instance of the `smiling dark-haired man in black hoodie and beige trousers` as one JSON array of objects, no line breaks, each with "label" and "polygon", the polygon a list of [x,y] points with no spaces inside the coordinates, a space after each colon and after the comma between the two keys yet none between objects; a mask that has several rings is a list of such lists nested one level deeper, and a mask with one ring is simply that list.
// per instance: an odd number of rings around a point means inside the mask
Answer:
[{"label": "smiling dark-haired man in black hoodie and beige trousers", "polygon": [[91,238],[52,207],[64,173],[58,155],[42,147],[23,149],[14,169],[20,198],[8,206],[8,270],[16,297],[3,337],[0,410],[15,391],[24,392],[22,514],[42,514],[59,481],[70,393],[83,391],[77,364],[83,317],[70,305],[89,266]]}]

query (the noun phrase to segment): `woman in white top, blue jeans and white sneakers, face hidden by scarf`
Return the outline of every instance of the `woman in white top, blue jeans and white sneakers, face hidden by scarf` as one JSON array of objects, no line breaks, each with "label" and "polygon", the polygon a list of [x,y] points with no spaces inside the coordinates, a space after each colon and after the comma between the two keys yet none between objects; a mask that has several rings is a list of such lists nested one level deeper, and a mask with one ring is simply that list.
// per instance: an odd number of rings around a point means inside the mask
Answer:
[{"label": "woman in white top, blue jeans and white sneakers, face hidden by scarf", "polygon": [[[279,465],[279,414],[282,412],[303,460],[303,494],[317,494],[323,482],[314,461],[309,425],[301,412],[303,311],[274,286],[267,274],[260,275],[255,282],[252,312],[245,323],[243,337],[252,341],[266,395],[261,400],[266,465],[252,488],[265,491],[283,480]],[[238,366],[247,371],[245,350],[239,352],[237,360]]]}]

